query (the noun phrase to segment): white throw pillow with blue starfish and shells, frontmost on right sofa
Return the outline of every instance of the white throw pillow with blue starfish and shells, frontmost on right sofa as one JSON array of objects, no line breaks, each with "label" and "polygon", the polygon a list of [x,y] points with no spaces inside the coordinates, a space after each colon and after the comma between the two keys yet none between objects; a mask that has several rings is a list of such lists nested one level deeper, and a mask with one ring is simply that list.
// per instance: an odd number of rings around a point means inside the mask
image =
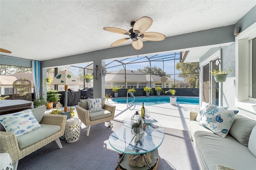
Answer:
[{"label": "white throw pillow with blue starfish and shells, frontmost on right sofa", "polygon": [[208,105],[204,113],[199,124],[225,138],[238,111],[229,110],[226,107],[212,107]]}]

